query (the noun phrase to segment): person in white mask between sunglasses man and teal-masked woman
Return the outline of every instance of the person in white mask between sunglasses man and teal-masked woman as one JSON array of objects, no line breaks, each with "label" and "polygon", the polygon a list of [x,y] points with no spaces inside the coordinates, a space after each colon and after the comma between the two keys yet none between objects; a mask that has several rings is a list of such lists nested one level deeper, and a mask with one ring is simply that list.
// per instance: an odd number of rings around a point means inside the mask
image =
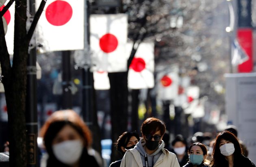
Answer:
[{"label": "person in white mask between sunglasses man and teal-masked woman", "polygon": [[171,152],[176,154],[180,166],[182,167],[186,165],[189,161],[189,155],[187,154],[187,141],[181,134],[177,134],[174,140],[171,142],[171,145],[173,148]]}]

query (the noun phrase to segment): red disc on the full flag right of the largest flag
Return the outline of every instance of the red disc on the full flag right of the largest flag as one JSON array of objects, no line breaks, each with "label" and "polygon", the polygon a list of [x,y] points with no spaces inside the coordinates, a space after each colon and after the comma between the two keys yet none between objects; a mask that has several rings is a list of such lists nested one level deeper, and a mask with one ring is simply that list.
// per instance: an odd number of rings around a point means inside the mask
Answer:
[{"label": "red disc on the full flag right of the largest flag", "polygon": [[100,48],[105,53],[113,52],[118,45],[117,37],[113,34],[105,34],[100,38]]}]

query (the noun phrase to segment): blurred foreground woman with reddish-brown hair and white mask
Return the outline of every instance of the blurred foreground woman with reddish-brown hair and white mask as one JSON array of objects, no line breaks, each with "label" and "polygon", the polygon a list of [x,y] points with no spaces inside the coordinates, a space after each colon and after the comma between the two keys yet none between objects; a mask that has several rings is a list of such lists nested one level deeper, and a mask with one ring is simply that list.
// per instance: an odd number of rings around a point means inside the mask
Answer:
[{"label": "blurred foreground woman with reddish-brown hair and white mask", "polygon": [[75,111],[55,111],[42,126],[40,136],[48,153],[46,167],[99,167],[87,152],[91,132]]}]

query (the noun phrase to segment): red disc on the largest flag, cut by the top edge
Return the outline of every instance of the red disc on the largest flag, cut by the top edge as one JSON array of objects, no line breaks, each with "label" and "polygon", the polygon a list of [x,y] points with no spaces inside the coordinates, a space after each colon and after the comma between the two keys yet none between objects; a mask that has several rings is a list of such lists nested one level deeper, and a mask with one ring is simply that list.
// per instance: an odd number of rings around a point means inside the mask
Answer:
[{"label": "red disc on the largest flag, cut by the top edge", "polygon": [[46,8],[46,19],[54,26],[66,24],[72,17],[72,7],[63,0],[56,0]]}]

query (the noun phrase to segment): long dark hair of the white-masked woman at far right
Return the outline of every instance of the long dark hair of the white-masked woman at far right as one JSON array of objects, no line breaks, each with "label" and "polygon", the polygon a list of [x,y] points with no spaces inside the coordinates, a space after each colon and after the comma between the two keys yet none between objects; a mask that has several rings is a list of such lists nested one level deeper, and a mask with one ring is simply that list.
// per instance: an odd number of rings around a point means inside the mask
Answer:
[{"label": "long dark hair of the white-masked woman at far right", "polygon": [[213,159],[210,163],[210,167],[226,166],[224,164],[228,163],[228,161],[225,159],[225,156],[221,154],[220,149],[219,149],[219,144],[221,142],[221,139],[225,139],[234,144],[234,149],[235,149],[235,151],[233,153],[234,161],[239,161],[239,157],[241,157],[242,151],[241,151],[241,147],[240,147],[238,139],[231,132],[224,130],[217,134],[215,144],[213,147],[213,153],[212,153]]}]

